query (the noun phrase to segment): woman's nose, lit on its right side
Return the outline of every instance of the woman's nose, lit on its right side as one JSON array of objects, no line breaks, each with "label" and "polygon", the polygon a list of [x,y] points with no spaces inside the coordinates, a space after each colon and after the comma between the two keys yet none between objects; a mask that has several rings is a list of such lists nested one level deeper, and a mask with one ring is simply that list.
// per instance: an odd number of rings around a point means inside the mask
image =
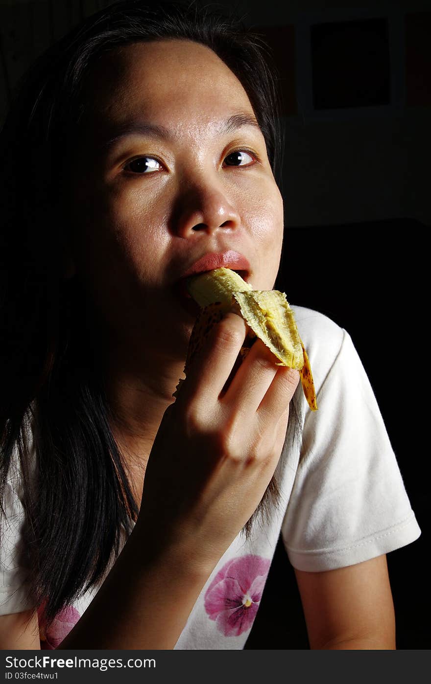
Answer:
[{"label": "woman's nose, lit on its right side", "polygon": [[196,231],[212,233],[218,228],[238,228],[241,219],[223,189],[208,182],[183,187],[173,223],[177,234],[186,238]]}]

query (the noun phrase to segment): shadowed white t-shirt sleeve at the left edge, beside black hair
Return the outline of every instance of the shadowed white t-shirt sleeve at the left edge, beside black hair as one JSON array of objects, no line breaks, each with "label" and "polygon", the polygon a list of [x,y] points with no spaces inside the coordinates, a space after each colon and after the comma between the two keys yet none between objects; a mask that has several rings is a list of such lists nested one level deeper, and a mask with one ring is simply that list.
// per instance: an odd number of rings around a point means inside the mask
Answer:
[{"label": "shadowed white t-shirt sleeve at the left edge, beside black hair", "polygon": [[21,476],[13,462],[5,486],[3,509],[5,515],[0,511],[0,615],[8,615],[34,607],[27,586],[29,562],[25,547],[26,518]]}]

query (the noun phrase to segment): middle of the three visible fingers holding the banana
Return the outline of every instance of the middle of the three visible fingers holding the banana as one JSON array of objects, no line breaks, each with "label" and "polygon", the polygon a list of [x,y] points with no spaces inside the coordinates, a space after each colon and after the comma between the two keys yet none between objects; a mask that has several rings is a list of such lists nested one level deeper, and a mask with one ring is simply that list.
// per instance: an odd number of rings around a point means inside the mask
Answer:
[{"label": "middle of the three visible fingers holding the banana", "polygon": [[257,339],[236,371],[223,402],[240,412],[255,413],[277,373],[277,358],[261,339]]}]

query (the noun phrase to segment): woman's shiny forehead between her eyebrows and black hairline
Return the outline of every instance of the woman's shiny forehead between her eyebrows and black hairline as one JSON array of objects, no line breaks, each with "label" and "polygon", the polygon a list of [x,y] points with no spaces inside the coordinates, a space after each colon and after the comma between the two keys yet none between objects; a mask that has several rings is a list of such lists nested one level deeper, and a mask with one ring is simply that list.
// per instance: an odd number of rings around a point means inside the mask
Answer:
[{"label": "woman's shiny forehead between her eyebrows and black hairline", "polygon": [[171,129],[211,126],[230,111],[253,114],[241,82],[208,47],[189,40],[139,42],[106,53],[86,81],[97,127],[133,118]]}]

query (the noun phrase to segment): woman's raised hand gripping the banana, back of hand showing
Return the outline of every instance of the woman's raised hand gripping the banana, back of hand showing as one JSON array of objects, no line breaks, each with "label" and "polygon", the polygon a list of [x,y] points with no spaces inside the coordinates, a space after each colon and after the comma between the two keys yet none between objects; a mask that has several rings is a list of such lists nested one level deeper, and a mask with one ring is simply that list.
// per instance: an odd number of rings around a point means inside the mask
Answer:
[{"label": "woman's raised hand gripping the banana, back of hand showing", "polygon": [[227,384],[245,334],[227,313],[195,358],[156,434],[136,523],[148,549],[174,547],[209,571],[264,495],[299,382],[258,339]]}]

